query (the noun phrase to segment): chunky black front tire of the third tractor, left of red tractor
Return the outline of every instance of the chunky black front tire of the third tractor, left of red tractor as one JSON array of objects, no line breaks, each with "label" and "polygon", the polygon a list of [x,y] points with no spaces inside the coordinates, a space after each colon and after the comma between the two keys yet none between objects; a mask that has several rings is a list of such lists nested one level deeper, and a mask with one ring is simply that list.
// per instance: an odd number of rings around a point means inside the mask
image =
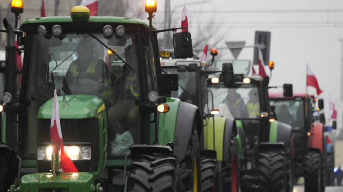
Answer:
[{"label": "chunky black front tire of the third tractor, left of red tractor", "polygon": [[270,149],[259,154],[258,187],[260,192],[286,191],[286,160],[280,149]]}]

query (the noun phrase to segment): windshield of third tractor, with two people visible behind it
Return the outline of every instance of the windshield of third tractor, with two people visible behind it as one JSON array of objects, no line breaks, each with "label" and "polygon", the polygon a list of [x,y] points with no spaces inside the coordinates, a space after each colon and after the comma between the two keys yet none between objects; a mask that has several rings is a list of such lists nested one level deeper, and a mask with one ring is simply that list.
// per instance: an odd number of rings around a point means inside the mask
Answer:
[{"label": "windshield of third tractor, with two people visible behind it", "polygon": [[219,105],[225,104],[235,118],[260,117],[260,103],[256,87],[226,88],[220,84],[212,84],[209,89],[213,92],[214,106],[218,108]]}]

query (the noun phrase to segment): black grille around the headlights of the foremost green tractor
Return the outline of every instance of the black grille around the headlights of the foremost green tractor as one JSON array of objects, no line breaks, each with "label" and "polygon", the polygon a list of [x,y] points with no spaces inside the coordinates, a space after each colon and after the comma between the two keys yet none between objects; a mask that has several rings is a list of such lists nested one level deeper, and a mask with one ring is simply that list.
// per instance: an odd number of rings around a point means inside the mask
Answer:
[{"label": "black grille around the headlights of the foremost green tractor", "polygon": [[[90,143],[91,160],[73,161],[79,172],[96,172],[99,165],[99,126],[97,118],[60,119],[63,144]],[[38,144],[51,143],[51,119],[38,119]],[[39,172],[49,172],[51,161],[38,161]]]}]

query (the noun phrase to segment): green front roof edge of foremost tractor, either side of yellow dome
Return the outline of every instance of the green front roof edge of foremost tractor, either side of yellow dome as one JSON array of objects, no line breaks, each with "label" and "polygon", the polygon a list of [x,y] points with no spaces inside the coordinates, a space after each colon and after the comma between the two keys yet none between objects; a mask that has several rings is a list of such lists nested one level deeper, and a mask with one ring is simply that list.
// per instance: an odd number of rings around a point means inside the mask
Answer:
[{"label": "green front roof edge of foremost tractor, either side of yellow dome", "polygon": [[[73,22],[71,17],[42,17],[26,20],[21,24],[21,27],[25,24],[33,23],[56,23],[56,22]],[[89,17],[88,22],[105,22],[105,23],[130,23],[141,24],[145,27],[149,27],[146,21],[140,19],[131,19],[123,17]]]}]

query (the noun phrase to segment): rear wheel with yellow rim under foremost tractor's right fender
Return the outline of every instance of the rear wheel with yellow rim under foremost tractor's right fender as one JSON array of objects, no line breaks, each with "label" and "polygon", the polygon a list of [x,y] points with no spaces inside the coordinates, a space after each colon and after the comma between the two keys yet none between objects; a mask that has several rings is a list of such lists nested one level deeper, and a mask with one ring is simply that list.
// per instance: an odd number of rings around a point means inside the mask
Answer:
[{"label": "rear wheel with yellow rim under foremost tractor's right fender", "polygon": [[187,155],[180,162],[183,192],[201,192],[200,143],[196,125],[187,147]]}]

